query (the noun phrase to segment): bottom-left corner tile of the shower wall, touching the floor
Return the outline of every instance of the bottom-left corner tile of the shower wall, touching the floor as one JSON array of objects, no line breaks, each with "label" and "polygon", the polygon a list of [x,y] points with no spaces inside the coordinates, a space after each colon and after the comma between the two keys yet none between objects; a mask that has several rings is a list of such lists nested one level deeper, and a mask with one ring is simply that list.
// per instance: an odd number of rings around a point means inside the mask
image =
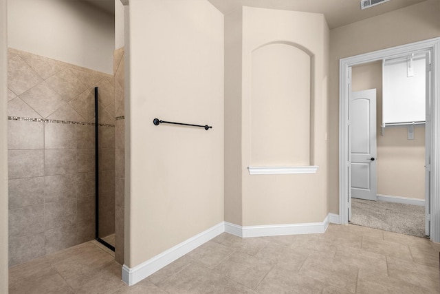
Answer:
[{"label": "bottom-left corner tile of the shower wall, touching the floor", "polygon": [[9,266],[45,255],[44,233],[9,238]]}]

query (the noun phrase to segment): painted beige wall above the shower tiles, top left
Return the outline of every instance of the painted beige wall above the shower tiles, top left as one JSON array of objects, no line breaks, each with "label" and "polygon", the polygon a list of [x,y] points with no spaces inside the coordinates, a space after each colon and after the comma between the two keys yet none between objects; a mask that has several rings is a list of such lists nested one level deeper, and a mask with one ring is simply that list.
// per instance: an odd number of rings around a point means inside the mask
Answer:
[{"label": "painted beige wall above the shower tiles, top left", "polygon": [[8,1],[9,47],[113,74],[115,19],[83,1]]}]

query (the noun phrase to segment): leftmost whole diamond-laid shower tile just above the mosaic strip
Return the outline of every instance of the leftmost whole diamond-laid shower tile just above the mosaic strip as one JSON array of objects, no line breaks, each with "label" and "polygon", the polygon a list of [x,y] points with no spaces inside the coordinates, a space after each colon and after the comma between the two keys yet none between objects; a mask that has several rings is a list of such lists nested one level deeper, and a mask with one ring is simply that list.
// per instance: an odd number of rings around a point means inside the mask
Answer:
[{"label": "leftmost whole diamond-laid shower tile just above the mosaic strip", "polygon": [[20,98],[43,116],[43,118],[47,118],[47,116],[65,104],[63,97],[54,92],[46,82],[32,87],[32,89],[21,94]]}]

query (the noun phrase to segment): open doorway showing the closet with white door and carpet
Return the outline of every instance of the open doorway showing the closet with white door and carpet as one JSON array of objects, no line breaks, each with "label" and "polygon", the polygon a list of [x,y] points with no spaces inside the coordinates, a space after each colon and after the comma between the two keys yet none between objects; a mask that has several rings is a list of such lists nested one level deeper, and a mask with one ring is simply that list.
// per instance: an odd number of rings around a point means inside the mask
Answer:
[{"label": "open doorway showing the closet with white door and carpet", "polygon": [[[425,63],[417,59],[417,72],[408,76],[406,65],[411,63],[407,61],[405,57],[352,67],[352,189],[349,221],[364,227],[424,238],[425,127],[422,123],[414,125],[403,122],[403,118],[391,118],[404,107],[400,103],[413,105],[421,101],[423,114],[417,119],[425,120]],[[382,75],[384,64],[390,65]],[[404,102],[404,97],[397,90],[391,91],[389,85],[383,85],[389,83],[386,77],[390,69],[393,70],[393,78],[399,76],[404,80],[397,81],[396,85],[407,83],[420,93],[416,101]],[[419,80],[423,83],[417,83],[416,86],[410,84]],[[366,95],[369,92],[371,97]],[[395,97],[399,101],[390,107],[388,100]],[[369,101],[372,102],[367,103]],[[368,108],[369,105],[371,107]],[[383,114],[384,107],[388,110],[386,114]],[[360,112],[359,108],[365,110]],[[405,119],[413,121],[416,118]],[[382,128],[384,121],[387,122],[385,129]],[[391,121],[395,125],[388,126]]]}]

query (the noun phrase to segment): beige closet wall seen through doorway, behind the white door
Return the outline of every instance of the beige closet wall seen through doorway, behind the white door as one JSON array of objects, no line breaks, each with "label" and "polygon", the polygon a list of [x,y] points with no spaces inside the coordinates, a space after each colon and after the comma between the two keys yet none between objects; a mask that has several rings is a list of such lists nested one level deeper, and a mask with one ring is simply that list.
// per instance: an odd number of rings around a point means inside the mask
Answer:
[{"label": "beige closet wall seen through doorway, behind the white door", "polygon": [[352,69],[352,90],[377,91],[377,193],[425,198],[425,127],[415,127],[408,140],[407,127],[387,127],[382,136],[382,62]]}]

